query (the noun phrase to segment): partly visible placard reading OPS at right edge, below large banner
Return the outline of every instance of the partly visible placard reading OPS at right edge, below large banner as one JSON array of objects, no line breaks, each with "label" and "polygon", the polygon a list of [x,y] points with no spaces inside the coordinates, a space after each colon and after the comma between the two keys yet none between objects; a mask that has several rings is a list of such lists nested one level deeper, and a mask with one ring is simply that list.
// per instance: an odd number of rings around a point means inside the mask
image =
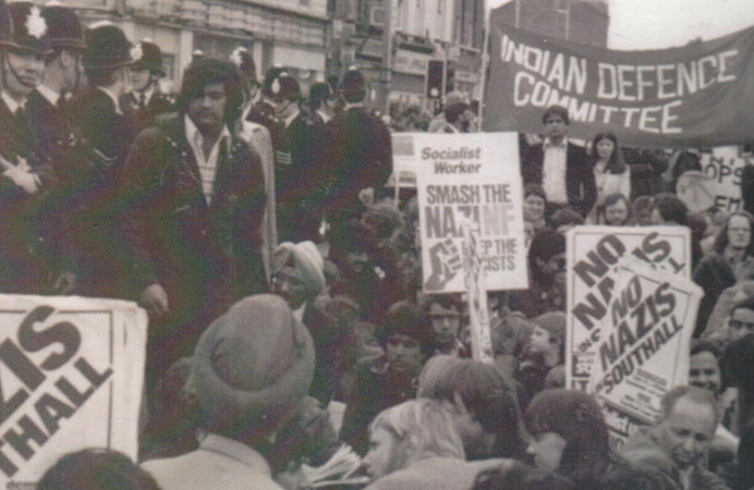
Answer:
[{"label": "partly visible placard reading OPS at right edge, below large banner", "polygon": [[712,177],[715,205],[722,211],[743,209],[741,198],[741,172],[746,164],[754,164],[754,157],[742,155],[740,146],[713,148],[702,155],[704,173]]}]

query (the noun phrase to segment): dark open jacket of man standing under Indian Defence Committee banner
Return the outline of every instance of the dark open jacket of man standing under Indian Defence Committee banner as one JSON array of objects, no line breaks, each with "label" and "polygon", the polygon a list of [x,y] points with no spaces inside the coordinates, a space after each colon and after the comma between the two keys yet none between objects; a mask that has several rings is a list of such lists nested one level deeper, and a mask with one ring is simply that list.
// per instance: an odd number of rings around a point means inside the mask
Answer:
[{"label": "dark open jacket of man standing under Indian Defence Committee banner", "polygon": [[[568,144],[566,157],[566,192],[568,204],[583,216],[592,210],[597,199],[597,187],[594,171],[589,166],[584,147]],[[521,160],[521,175],[524,184],[542,185],[542,172],[545,164],[545,152],[542,144],[531,146]]]}]

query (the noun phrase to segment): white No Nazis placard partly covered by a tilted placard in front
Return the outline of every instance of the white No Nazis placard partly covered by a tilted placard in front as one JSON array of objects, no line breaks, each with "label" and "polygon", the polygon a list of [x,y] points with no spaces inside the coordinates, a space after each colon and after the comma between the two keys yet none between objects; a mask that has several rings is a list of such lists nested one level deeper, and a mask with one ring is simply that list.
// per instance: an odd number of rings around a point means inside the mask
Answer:
[{"label": "white No Nazis placard partly covered by a tilted placard in front", "polygon": [[[566,385],[586,390],[623,257],[691,279],[686,226],[576,226],[567,237]],[[693,328],[693,327],[692,327]]]}]

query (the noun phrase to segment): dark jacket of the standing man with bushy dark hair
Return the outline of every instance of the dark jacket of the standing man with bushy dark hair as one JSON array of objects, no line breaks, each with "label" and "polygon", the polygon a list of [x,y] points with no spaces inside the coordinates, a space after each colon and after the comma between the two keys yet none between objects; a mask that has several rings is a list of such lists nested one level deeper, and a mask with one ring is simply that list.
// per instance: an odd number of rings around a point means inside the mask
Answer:
[{"label": "dark jacket of the standing man with bushy dark hair", "polygon": [[[181,117],[138,135],[122,179],[123,234],[137,290],[154,283],[166,290],[171,314],[153,326],[153,335],[167,339],[163,357],[177,360],[191,355],[202,331],[233,302],[267,290],[259,156],[235,136],[221,145],[208,205]],[[180,339],[169,339],[175,329]]]}]

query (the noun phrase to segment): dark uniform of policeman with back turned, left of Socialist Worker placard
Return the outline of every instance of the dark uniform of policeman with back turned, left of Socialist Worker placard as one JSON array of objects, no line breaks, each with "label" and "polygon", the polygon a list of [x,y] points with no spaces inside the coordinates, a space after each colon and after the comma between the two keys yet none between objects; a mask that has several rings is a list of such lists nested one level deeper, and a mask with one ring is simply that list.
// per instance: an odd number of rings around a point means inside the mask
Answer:
[{"label": "dark uniform of policeman with back turned, left of Socialist Worker placard", "polygon": [[358,192],[384,186],[392,172],[390,131],[363,108],[343,111],[328,125],[332,142],[329,207],[358,209]]}]

